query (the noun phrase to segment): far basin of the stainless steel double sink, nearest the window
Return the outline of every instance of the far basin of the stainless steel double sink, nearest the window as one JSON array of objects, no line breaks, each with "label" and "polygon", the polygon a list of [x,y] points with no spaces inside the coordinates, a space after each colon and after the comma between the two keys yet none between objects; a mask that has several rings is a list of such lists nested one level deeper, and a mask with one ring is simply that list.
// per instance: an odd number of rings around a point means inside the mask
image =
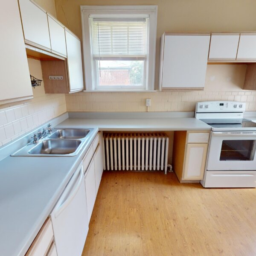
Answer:
[{"label": "far basin of the stainless steel double sink, nearest the window", "polygon": [[90,132],[89,129],[58,129],[52,135],[51,139],[82,139]]}]

